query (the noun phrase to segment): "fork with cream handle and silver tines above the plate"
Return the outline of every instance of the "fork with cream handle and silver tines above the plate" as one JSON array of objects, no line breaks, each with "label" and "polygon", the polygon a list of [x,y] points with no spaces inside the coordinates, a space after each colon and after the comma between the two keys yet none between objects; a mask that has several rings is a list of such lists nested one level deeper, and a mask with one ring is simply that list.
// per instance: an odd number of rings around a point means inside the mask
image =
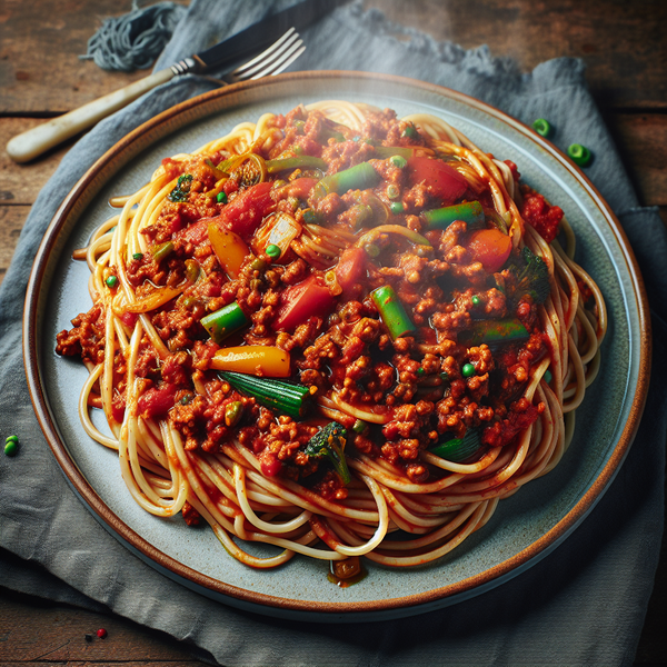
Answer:
[{"label": "fork with cream handle and silver tines above the plate", "polygon": [[[305,50],[306,47],[299,33],[290,28],[268,49],[229,72],[222,79],[205,78],[218,86],[227,86],[250,79],[276,76],[290,66]],[[170,68],[155,72],[73,111],[17,135],[7,143],[7,152],[14,162],[28,162],[50,148],[62,143],[66,139],[92,127],[102,118],[118,111],[118,109],[122,109],[145,92],[160,86],[160,83],[166,83],[173,77],[190,71],[197,71],[197,62],[192,58],[186,58]]]}]

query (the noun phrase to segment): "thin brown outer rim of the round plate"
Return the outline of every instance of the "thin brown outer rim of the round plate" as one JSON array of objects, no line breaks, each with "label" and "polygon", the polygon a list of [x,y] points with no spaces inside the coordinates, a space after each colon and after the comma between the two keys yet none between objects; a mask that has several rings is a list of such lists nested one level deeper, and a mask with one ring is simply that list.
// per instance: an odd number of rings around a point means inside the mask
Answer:
[{"label": "thin brown outer rim of the round plate", "polygon": [[[220,98],[235,96],[239,91],[242,92],[245,90],[270,87],[270,84],[280,84],[283,81],[307,82],[308,80],[312,79],[323,79],[330,81],[338,80],[339,82],[359,79],[367,81],[372,80],[374,82],[381,81],[388,86],[391,83],[400,83],[401,86],[408,88],[419,88],[428,93],[454,99],[474,109],[480,110],[500,120],[505,125],[521,133],[524,137],[532,140],[575,177],[578,183],[584,187],[585,191],[589,195],[590,200],[608,223],[614,233],[617,246],[625,259],[627,275],[630,278],[630,285],[633,288],[631,296],[635,299],[639,316],[639,358],[637,364],[637,385],[635,387],[635,396],[629,407],[628,419],[623,428],[618,441],[605,466],[597,475],[595,481],[590,485],[590,488],[579,497],[576,505],[555,526],[552,526],[547,532],[545,532],[541,537],[536,539],[532,544],[524,548],[518,554],[475,576],[461,579],[460,581],[456,581],[440,588],[434,588],[428,591],[397,598],[354,603],[325,603],[317,600],[287,599],[239,588],[219,579],[209,577],[208,575],[190,568],[189,566],[176,560],[175,558],[153,547],[147,539],[141,537],[132,528],[125,524],[104,504],[97,491],[88,482],[82,471],[78,468],[76,461],[69,455],[66,444],[60,439],[56,421],[49,409],[49,399],[43,386],[42,374],[39,364],[39,337],[37,335],[37,320],[39,317],[38,301],[44,272],[47,266],[49,265],[49,257],[54,249],[58,231],[64,226],[74,207],[80,205],[80,202],[86,199],[84,195],[87,195],[89,189],[94,190],[94,181],[100,179],[106,170],[113,169],[115,162],[122,160],[123,156],[126,156],[128,151],[131,152],[135,150],[140,152],[150,147],[152,143],[168,136],[169,131],[167,126],[169,126],[169,123],[180,120],[181,125],[179,127],[186,127],[191,122],[191,120],[183,120],[187,119],[188,113],[196,115],[197,111],[206,109],[209,103],[215,106],[215,102]],[[206,118],[211,113],[215,113],[215,110],[210,111],[209,113],[205,112],[202,118]],[[160,128],[166,131],[165,135],[160,135]],[[153,136],[149,137],[151,132]],[[141,140],[142,137],[145,138],[143,140]],[[147,137],[148,142],[146,139]],[[97,195],[97,192],[91,195],[90,199],[92,199],[94,195]],[[83,208],[90,203],[90,199],[83,205]],[[24,300],[23,365],[26,369],[30,398],[38,421],[60,469],[66,475],[68,482],[76,490],[77,495],[87,506],[87,508],[92,510],[93,516],[98,519],[98,521],[102,522],[102,525],[115,537],[120,538],[120,541],[126,547],[129,546],[131,550],[138,551],[143,559],[148,559],[149,563],[157,565],[158,570],[163,568],[177,579],[182,578],[186,581],[189,581],[197,588],[201,588],[200,593],[203,593],[205,595],[207,595],[207,591],[213,593],[222,598],[228,598],[228,601],[232,605],[235,601],[247,604],[251,607],[257,607],[256,610],[269,615],[272,615],[271,613],[277,611],[278,609],[287,609],[296,613],[308,613],[309,618],[313,620],[318,619],[313,616],[313,613],[318,617],[327,617],[338,614],[351,614],[354,617],[357,617],[358,614],[367,615],[368,613],[375,614],[378,611],[396,613],[400,610],[407,615],[420,613],[420,607],[424,608],[424,610],[428,610],[429,608],[434,608],[434,605],[446,606],[448,604],[458,603],[459,600],[462,601],[462,599],[467,599],[480,594],[490,587],[495,587],[500,583],[519,575],[521,571],[535,565],[552,549],[555,549],[561,541],[564,541],[565,538],[593,510],[597,501],[599,501],[604,492],[609,487],[625,457],[627,456],[639,427],[641,414],[646,404],[650,377],[651,355],[651,331],[648,312],[648,298],[637,260],[631,246],[629,245],[627,236],[611,208],[606,203],[599,191],[590,182],[583,170],[550,141],[537,135],[531,128],[520,122],[516,118],[505,113],[504,111],[500,111],[499,109],[471,96],[446,88],[444,86],[420,81],[417,79],[399,77],[396,74],[350,72],[345,70],[301,71],[282,73],[277,77],[271,77],[270,79],[236,83],[221,89],[201,93],[197,97],[175,104],[173,107],[170,107],[169,109],[155,116],[126,135],[122,139],[110,147],[100,158],[98,158],[93,165],[90,166],[90,168],[77,181],[58,208],[53,219],[42,237],[40,247],[37,251]],[[185,581],[180,583],[185,584]]]}]

